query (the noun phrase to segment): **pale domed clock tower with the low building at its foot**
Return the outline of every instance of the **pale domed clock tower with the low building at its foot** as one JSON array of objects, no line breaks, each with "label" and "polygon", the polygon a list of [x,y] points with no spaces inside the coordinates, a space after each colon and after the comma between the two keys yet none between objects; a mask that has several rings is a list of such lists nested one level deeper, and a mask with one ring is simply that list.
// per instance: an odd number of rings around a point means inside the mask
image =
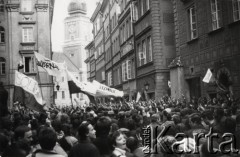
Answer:
[{"label": "pale domed clock tower with the low building at its foot", "polygon": [[[79,81],[87,81],[87,52],[85,47],[92,40],[92,24],[86,16],[86,2],[72,0],[68,6],[68,14],[64,20],[64,45],[62,53],[54,53],[54,61],[65,62],[68,70],[74,74]],[[84,94],[70,95],[66,75],[54,79],[55,82],[55,104],[57,106],[68,106],[81,104],[87,100]],[[56,87],[59,87],[57,89]],[[71,100],[72,98],[72,100]]]}]

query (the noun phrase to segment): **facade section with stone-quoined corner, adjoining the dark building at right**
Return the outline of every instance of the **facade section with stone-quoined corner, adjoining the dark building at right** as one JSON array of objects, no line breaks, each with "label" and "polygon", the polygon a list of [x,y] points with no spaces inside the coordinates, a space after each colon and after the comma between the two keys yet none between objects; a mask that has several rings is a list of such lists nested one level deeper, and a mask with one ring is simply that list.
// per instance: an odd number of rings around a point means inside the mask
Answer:
[{"label": "facade section with stone-quoined corner, adjoining the dark building at right", "polygon": [[137,91],[159,98],[170,94],[168,65],[176,55],[173,4],[137,0],[133,8]]}]

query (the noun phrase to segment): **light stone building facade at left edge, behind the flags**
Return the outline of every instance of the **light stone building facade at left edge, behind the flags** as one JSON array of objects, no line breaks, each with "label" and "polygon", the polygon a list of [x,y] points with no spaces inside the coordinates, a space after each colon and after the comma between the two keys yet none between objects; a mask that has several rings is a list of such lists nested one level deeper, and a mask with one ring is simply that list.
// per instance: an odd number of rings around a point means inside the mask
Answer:
[{"label": "light stone building facade at left edge, behind the flags", "polygon": [[36,79],[47,105],[53,103],[52,77],[38,70],[34,51],[51,56],[51,24],[54,0],[0,1],[0,81],[13,104],[14,71],[20,61],[23,73]]}]

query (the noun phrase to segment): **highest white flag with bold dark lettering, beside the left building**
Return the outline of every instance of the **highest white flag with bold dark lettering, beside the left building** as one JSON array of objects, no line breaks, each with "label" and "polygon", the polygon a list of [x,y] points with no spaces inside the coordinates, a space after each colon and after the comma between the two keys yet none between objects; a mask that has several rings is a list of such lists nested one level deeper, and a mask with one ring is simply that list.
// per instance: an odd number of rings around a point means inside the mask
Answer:
[{"label": "highest white flag with bold dark lettering, beside the left building", "polygon": [[65,63],[54,62],[37,52],[34,52],[34,54],[37,60],[37,65],[47,71],[49,75],[56,77],[60,76],[66,67]]}]

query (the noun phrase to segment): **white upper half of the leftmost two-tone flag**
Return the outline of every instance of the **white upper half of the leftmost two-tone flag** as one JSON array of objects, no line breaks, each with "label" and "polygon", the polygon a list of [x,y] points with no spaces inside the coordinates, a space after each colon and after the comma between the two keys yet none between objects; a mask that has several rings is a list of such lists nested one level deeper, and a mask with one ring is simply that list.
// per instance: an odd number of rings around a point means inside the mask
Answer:
[{"label": "white upper half of the leftmost two-tone flag", "polygon": [[14,85],[19,86],[23,88],[25,91],[27,91],[28,93],[32,94],[40,105],[43,105],[45,103],[42,99],[41,91],[38,86],[38,82],[36,80],[18,71],[15,71]]}]

